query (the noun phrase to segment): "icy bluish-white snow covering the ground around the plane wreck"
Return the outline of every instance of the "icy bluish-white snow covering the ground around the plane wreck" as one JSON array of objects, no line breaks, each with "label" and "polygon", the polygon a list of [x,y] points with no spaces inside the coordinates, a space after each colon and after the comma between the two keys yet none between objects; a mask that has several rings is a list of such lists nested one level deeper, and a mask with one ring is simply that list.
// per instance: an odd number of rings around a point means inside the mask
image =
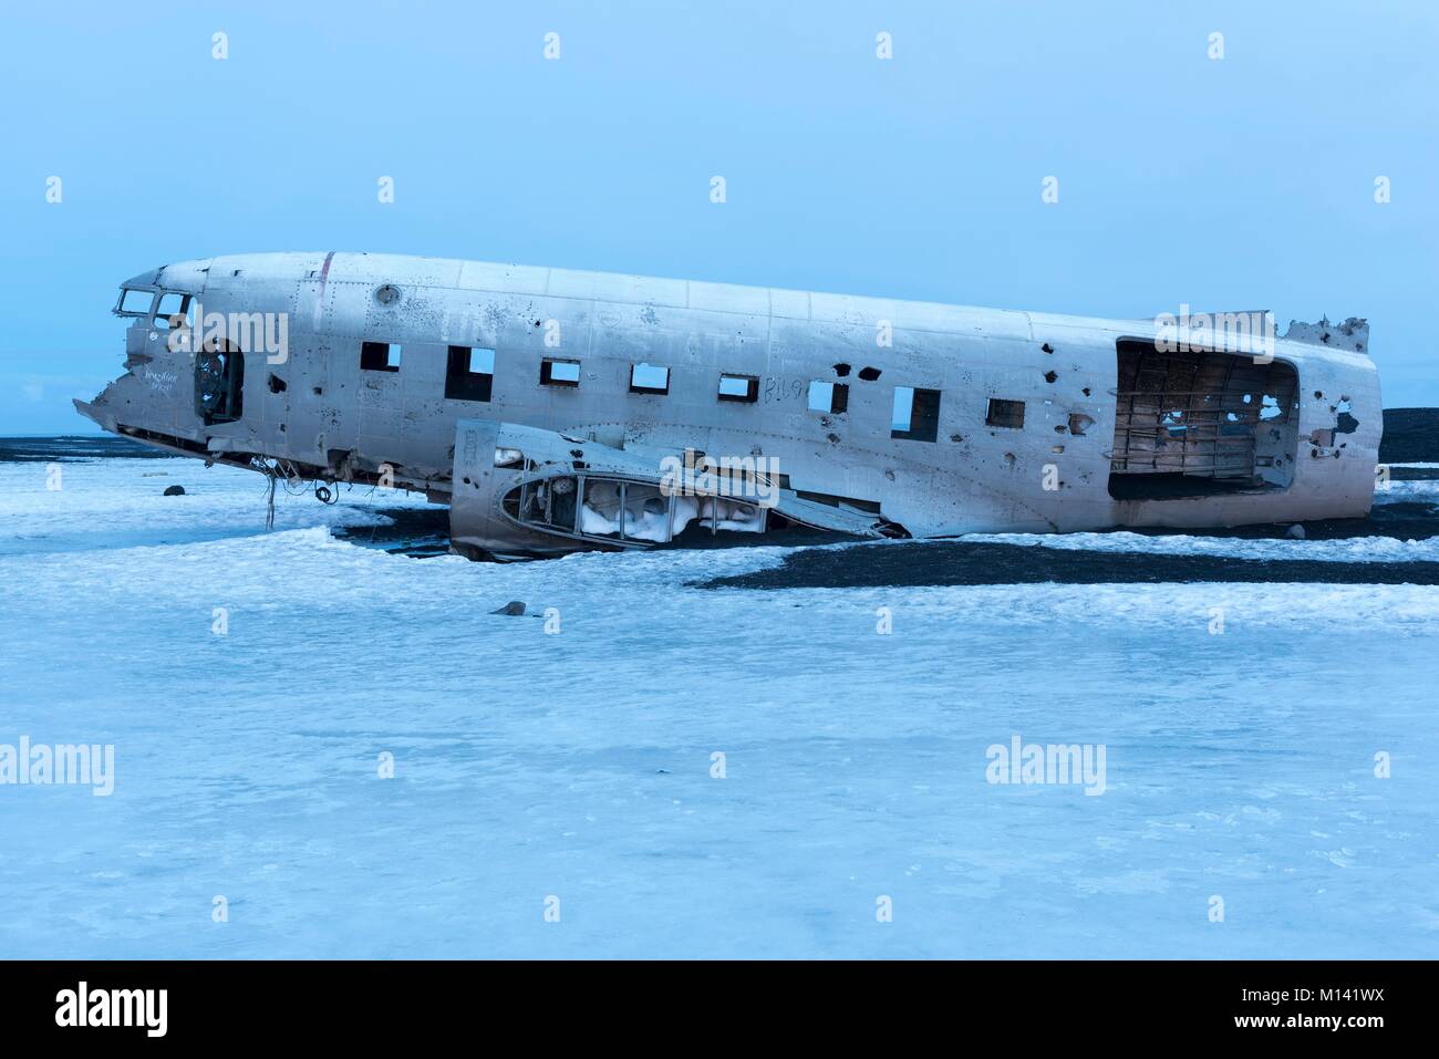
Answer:
[{"label": "icy bluish-white snow covering the ground around the plane wreck", "polygon": [[[328,530],[403,494],[265,532],[255,475],[46,475],[0,463],[0,744],[115,786],[0,786],[0,957],[1439,955],[1439,588],[707,590],[784,551],[417,560]],[[1174,540],[1062,547],[1435,558]],[[1104,793],[989,783],[1014,735]]]}]

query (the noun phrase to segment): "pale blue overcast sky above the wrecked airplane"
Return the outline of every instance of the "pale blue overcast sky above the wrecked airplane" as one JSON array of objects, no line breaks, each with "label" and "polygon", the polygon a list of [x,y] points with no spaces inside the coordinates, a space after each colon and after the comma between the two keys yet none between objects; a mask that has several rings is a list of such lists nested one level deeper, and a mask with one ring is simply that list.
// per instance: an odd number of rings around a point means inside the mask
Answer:
[{"label": "pale blue overcast sky above the wrecked airplane", "polygon": [[283,249],[1363,315],[1439,404],[1436,53],[1427,1],[9,4],[0,433],[91,429],[127,276]]}]

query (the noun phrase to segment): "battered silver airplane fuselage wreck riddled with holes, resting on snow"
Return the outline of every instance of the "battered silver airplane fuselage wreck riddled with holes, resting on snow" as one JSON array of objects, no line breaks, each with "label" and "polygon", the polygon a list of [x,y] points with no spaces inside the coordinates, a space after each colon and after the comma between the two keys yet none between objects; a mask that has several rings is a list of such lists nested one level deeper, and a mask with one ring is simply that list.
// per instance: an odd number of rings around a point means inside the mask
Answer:
[{"label": "battered silver airplane fuselage wreck riddled with holes, resting on snow", "polygon": [[324,501],[422,491],[475,558],[1363,517],[1383,429],[1360,319],[338,252],[168,265],[115,312],[125,373],[75,403],[101,427]]}]

